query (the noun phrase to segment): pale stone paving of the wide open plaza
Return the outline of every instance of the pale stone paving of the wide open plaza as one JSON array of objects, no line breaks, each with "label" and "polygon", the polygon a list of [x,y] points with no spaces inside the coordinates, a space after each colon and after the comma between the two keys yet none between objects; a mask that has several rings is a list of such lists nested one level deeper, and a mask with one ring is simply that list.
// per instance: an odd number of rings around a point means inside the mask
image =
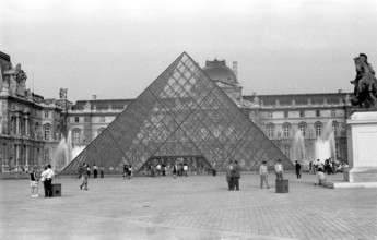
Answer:
[{"label": "pale stone paving of the wide open plaza", "polygon": [[0,239],[377,239],[377,189],[285,178],[290,193],[275,193],[273,175],[260,189],[258,175],[244,173],[240,191],[227,191],[223,175],[105,176],[89,191],[69,177],[54,180],[62,196],[52,199],[32,199],[28,180],[2,180]]}]

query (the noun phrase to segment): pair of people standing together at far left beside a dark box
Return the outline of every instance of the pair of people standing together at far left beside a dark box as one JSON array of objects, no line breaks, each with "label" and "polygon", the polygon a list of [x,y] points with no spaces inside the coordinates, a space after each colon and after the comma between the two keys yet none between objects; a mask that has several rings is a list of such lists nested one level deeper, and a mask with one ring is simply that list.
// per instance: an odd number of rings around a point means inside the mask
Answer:
[{"label": "pair of people standing together at far left beside a dark box", "polygon": [[45,166],[45,170],[40,173],[40,178],[37,176],[35,168],[32,169],[30,173],[31,180],[31,193],[32,197],[38,197],[39,182],[43,182],[45,190],[45,197],[52,197],[52,179],[55,178],[55,172],[51,169],[51,165]]}]

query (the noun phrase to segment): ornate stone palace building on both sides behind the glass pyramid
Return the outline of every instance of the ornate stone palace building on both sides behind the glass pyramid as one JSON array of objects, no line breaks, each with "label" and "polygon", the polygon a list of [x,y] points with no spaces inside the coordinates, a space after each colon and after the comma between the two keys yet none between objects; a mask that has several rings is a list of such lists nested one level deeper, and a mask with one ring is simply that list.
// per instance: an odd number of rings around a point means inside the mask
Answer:
[{"label": "ornate stone palace building on both sides behind the glass pyramid", "polygon": [[[133,99],[92,99],[72,104],[67,89],[57,99],[26,89],[26,73],[0,52],[0,163],[2,172],[42,168],[57,157],[63,136],[89,145]],[[333,133],[333,155],[347,159],[345,121],[351,93],[243,95],[237,62],[207,61],[203,71],[292,161],[315,160],[316,143]],[[72,134],[68,134],[71,132]],[[301,149],[297,146],[299,143]],[[299,158],[299,159],[298,159]]]}]

